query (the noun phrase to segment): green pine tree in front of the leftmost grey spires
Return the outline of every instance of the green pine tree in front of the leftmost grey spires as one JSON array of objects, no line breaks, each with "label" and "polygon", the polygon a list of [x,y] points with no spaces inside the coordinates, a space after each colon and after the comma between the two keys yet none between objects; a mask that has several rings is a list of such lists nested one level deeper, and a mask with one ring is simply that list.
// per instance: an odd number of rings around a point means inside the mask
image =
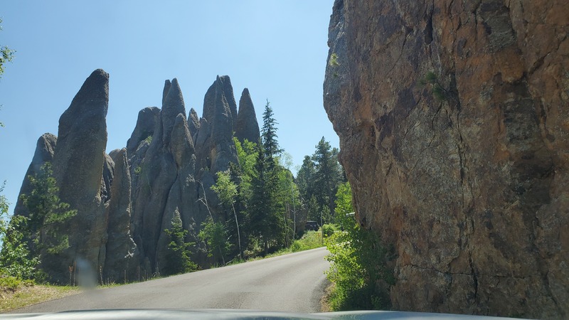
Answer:
[{"label": "green pine tree in front of the leftmost grey spires", "polygon": [[35,176],[28,176],[31,193],[21,195],[28,208],[27,236],[32,240],[32,256],[56,255],[69,247],[65,223],[77,214],[68,203],[60,201],[59,188],[51,164],[46,162]]}]

